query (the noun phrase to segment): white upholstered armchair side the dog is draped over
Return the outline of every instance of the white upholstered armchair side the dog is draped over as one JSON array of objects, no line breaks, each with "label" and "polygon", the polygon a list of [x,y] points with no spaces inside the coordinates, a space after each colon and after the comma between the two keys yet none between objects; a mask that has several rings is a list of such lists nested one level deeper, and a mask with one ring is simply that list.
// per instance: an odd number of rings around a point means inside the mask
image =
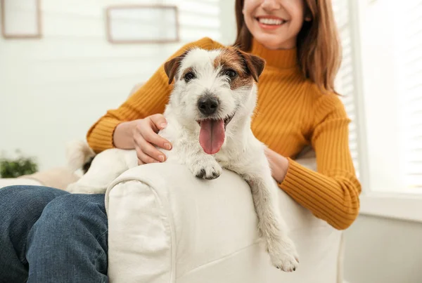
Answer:
[{"label": "white upholstered armchair side the dog is draped over", "polygon": [[250,188],[236,173],[200,180],[177,164],[123,173],[106,192],[110,282],[343,282],[343,233],[279,194],[300,254],[293,273],[271,265],[257,240]]}]

